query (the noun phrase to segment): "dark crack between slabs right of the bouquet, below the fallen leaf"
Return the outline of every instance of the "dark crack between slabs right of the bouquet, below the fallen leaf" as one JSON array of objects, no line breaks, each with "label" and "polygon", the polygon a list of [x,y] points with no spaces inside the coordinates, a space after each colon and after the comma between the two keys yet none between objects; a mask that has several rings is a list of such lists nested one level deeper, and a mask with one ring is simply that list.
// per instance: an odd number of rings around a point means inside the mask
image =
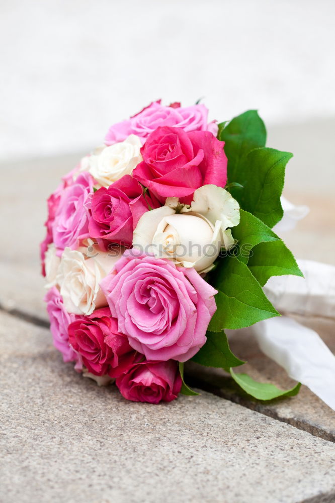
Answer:
[{"label": "dark crack between slabs right of the bouquet, below the fallen leaf", "polygon": [[[224,389],[215,386],[212,383],[206,382],[205,380],[199,379],[195,377],[193,374],[188,374],[186,372],[186,377],[187,377],[187,382],[188,385],[193,387],[193,388],[199,388],[202,389],[203,391],[207,391],[209,393],[212,393],[213,395],[219,396],[221,398],[224,398],[225,400],[229,400],[234,403],[238,403],[239,405],[242,405],[245,408],[248,408],[250,410],[255,410],[256,412],[260,412],[261,414],[267,415],[268,417],[272,417],[273,419],[280,421],[282,423],[286,423],[288,425],[291,425],[298,430],[302,430],[306,433],[309,433],[310,435],[313,435],[313,437],[319,437],[322,440],[326,440],[327,442],[335,442],[335,434],[334,433],[329,433],[322,428],[317,427],[316,425],[312,425],[310,423],[306,423],[303,420],[297,418],[297,417],[281,417],[276,413],[276,411],[270,407],[267,407],[266,404],[258,401],[252,401],[251,399],[249,400],[247,397],[244,397],[242,395],[235,394],[233,392],[225,391]],[[334,499],[335,503],[335,499]]]}]

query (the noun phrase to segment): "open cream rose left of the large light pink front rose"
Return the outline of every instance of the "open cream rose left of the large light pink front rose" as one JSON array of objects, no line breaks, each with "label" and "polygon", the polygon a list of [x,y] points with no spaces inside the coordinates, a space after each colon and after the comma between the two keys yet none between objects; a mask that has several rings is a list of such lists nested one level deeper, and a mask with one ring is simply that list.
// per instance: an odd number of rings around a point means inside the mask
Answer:
[{"label": "open cream rose left of the large light pink front rose", "polygon": [[56,281],[60,287],[65,309],[74,314],[92,314],[95,309],[108,305],[99,283],[113,269],[123,253],[97,252],[96,257],[86,259],[79,250],[65,248]]}]

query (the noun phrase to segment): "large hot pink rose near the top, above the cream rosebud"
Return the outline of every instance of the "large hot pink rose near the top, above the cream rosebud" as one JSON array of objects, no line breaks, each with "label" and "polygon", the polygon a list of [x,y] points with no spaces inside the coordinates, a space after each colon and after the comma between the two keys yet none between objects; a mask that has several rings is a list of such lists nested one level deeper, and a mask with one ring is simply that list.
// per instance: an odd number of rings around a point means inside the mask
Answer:
[{"label": "large hot pink rose near the top, above the cream rosebud", "polygon": [[133,176],[161,202],[178,197],[190,204],[196,189],[213,184],[225,187],[227,157],[220,141],[209,131],[186,133],[176,127],[159,127],[141,148],[143,161]]}]

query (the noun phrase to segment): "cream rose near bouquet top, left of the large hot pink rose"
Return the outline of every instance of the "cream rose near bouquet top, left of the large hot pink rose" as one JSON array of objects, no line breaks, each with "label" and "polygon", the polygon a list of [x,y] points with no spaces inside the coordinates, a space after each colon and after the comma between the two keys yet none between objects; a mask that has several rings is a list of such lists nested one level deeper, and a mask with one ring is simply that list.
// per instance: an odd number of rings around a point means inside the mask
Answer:
[{"label": "cream rose near bouquet top, left of the large hot pink rose", "polygon": [[131,175],[142,161],[141,140],[131,134],[124,141],[97,149],[81,160],[81,170],[88,171],[101,187],[109,187],[124,175]]}]

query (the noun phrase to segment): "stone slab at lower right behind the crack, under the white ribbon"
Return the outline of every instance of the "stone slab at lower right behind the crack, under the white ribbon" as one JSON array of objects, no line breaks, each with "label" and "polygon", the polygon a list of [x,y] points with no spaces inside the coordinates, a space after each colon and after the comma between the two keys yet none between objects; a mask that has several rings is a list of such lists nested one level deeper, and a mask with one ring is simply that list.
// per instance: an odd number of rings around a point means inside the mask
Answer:
[{"label": "stone slab at lower right behind the crack, under the white ribbon", "polygon": [[[301,316],[295,316],[295,319],[316,330],[329,349],[335,353],[333,320]],[[236,368],[236,372],[245,372],[255,380],[276,384],[282,389],[289,389],[295,384],[279,365],[260,351],[252,333],[245,330],[236,331],[233,337],[229,338],[229,344],[236,356],[247,361],[246,364]],[[243,393],[222,369],[202,367],[189,362],[185,371],[190,382],[203,389],[294,425],[312,435],[335,442],[335,412],[306,386],[301,386],[299,393],[294,397],[260,402]]]}]

